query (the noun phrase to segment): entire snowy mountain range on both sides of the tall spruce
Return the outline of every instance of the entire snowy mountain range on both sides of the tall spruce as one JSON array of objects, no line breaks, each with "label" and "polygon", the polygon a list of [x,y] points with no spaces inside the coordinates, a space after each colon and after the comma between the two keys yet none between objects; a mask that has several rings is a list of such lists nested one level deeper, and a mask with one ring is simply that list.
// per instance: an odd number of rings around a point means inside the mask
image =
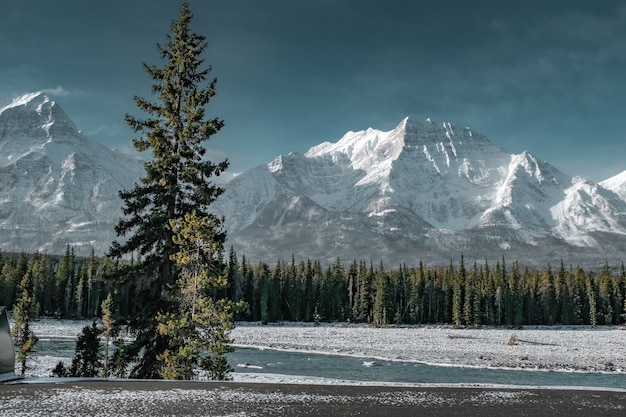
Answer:
[{"label": "entire snowy mountain range on both sides of the tall spruce", "polygon": [[[43,94],[0,109],[0,247],[104,253],[118,190],[141,161],[80,134]],[[237,176],[212,207],[253,261],[379,259],[417,264],[504,256],[603,263],[626,250],[626,171],[600,183],[451,123],[406,118],[348,132]]]}]

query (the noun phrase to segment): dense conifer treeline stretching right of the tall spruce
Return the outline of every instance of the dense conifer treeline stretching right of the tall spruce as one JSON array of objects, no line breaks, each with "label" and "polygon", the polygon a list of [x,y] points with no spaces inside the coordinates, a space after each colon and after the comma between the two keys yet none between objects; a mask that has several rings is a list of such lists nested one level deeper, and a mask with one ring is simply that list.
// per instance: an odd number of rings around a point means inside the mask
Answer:
[{"label": "dense conifer treeline stretching right of the tall spruce", "polygon": [[239,320],[351,321],[377,326],[602,325],[625,319],[626,272],[582,267],[521,269],[502,259],[429,268],[337,260],[241,263],[231,251],[228,296],[250,306]]}]

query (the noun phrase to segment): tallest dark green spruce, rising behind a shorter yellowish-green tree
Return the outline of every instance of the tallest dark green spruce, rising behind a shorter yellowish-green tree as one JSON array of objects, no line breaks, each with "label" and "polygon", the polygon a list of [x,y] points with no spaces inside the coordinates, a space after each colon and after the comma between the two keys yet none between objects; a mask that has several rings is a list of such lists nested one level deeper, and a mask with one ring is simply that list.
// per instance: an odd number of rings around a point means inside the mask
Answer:
[{"label": "tallest dark green spruce, rising behind a shorter yellowish-green tree", "polygon": [[[157,45],[163,67],[144,64],[154,81],[152,93],[156,100],[134,97],[147,116],[126,116],[129,126],[141,134],[133,141],[135,148],[151,152],[141,183],[120,192],[125,217],[116,226],[116,232],[125,240],[113,242],[109,251],[113,258],[140,257],[139,262],[119,268],[116,274],[118,286],[133,280],[138,289],[138,314],[131,324],[136,339],[117,355],[136,361],[131,377],[162,377],[163,364],[158,357],[178,344],[168,333],[158,331],[156,320],[179,307],[168,294],[169,288],[176,285],[180,269],[174,260],[180,243],[173,239],[172,222],[183,221],[186,214],[195,213],[210,225],[207,239],[225,239],[221,232],[223,219],[211,214],[208,207],[223,192],[211,178],[219,176],[228,162],[215,164],[207,160],[203,146],[222,128],[223,122],[218,118],[205,119],[205,106],[215,95],[216,80],[207,83],[211,67],[205,66],[201,58],[207,43],[204,36],[191,31],[191,20],[189,5],[183,2],[167,43]],[[230,324],[219,324],[222,325]]]}]

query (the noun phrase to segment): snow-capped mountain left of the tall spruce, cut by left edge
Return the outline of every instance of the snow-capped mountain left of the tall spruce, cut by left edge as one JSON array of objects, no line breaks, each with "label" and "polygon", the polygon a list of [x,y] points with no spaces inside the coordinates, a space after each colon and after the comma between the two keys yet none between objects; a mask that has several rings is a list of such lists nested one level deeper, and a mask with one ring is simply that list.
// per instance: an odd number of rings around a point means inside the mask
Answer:
[{"label": "snow-capped mountain left of the tall spruce, cut by left edge", "polygon": [[82,135],[61,107],[32,93],[0,108],[0,248],[104,253],[121,216],[119,190],[140,161]]}]

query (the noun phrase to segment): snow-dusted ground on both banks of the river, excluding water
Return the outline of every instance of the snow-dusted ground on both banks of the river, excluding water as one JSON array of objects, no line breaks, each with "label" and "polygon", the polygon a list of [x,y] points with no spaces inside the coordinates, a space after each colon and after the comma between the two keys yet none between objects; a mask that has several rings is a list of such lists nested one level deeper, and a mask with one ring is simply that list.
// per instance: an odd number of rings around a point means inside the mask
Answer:
[{"label": "snow-dusted ground on both banks of the river, excluding water", "polygon": [[[75,336],[82,325],[42,321],[34,331]],[[240,347],[459,367],[606,372],[626,378],[626,330],[619,327],[383,329],[238,323],[232,336]],[[378,384],[239,372],[233,376],[235,381],[229,383],[40,378],[38,383],[0,385],[0,417],[626,415],[623,389]]]}]

